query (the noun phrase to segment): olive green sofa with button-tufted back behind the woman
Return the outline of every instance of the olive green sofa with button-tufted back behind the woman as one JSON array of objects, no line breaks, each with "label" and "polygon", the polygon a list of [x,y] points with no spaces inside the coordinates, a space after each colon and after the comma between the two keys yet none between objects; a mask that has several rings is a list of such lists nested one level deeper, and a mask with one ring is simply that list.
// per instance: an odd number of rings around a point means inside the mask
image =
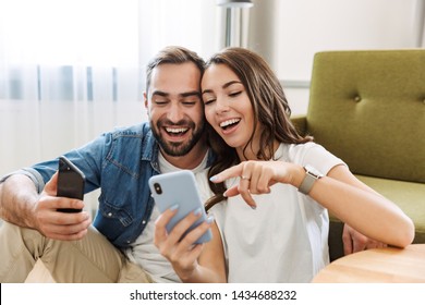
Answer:
[{"label": "olive green sofa with button-tufted back behind the woman", "polygon": [[[315,54],[306,115],[291,118],[393,200],[425,243],[425,50]],[[330,216],[329,253],[343,255],[343,224]]]}]

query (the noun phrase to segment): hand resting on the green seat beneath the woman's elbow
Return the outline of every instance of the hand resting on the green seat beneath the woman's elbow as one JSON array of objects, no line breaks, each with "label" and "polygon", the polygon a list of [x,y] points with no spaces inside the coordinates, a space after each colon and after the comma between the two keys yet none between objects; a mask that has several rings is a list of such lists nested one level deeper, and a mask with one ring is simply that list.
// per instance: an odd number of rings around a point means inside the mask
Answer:
[{"label": "hand resting on the green seat beneath the woman's elbow", "polygon": [[362,233],[355,231],[347,223],[344,224],[343,232],[342,232],[342,242],[344,245],[344,255],[368,249],[368,248],[381,248],[387,246],[381,242],[374,241],[363,235]]}]

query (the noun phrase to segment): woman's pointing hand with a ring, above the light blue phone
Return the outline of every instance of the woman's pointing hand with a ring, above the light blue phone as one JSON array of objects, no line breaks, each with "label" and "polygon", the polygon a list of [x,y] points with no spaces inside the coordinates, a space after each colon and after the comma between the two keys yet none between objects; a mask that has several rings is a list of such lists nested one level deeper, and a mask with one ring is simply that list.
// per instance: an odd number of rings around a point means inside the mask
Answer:
[{"label": "woman's pointing hand with a ring, above the light blue phone", "polygon": [[241,194],[246,204],[255,208],[256,204],[252,194],[268,194],[270,186],[278,182],[293,184],[295,170],[302,170],[301,167],[299,168],[283,161],[243,161],[223,170],[210,180],[214,183],[219,183],[230,178],[240,176],[239,184],[230,187],[224,196],[232,197]]}]

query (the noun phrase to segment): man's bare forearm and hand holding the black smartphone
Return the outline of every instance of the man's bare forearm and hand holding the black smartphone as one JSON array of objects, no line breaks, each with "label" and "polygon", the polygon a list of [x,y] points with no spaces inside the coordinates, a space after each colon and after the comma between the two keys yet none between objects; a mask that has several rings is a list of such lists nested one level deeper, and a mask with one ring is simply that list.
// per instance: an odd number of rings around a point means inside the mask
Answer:
[{"label": "man's bare forearm and hand holding the black smartphone", "polygon": [[46,184],[41,194],[24,174],[13,174],[0,184],[0,217],[20,227],[38,230],[50,239],[80,240],[92,220],[86,211],[60,212],[58,208],[81,209],[78,199],[57,197],[58,174]]}]

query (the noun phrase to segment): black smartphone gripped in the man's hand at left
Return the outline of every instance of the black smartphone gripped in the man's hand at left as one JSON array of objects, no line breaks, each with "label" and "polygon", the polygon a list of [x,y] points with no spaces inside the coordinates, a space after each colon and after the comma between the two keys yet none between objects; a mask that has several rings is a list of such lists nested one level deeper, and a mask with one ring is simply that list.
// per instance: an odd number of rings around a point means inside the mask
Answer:
[{"label": "black smartphone gripped in the man's hand at left", "polygon": [[[58,197],[68,197],[75,199],[84,199],[84,173],[74,166],[66,157],[59,157],[58,164]],[[78,212],[82,209],[58,209],[63,212]]]}]

